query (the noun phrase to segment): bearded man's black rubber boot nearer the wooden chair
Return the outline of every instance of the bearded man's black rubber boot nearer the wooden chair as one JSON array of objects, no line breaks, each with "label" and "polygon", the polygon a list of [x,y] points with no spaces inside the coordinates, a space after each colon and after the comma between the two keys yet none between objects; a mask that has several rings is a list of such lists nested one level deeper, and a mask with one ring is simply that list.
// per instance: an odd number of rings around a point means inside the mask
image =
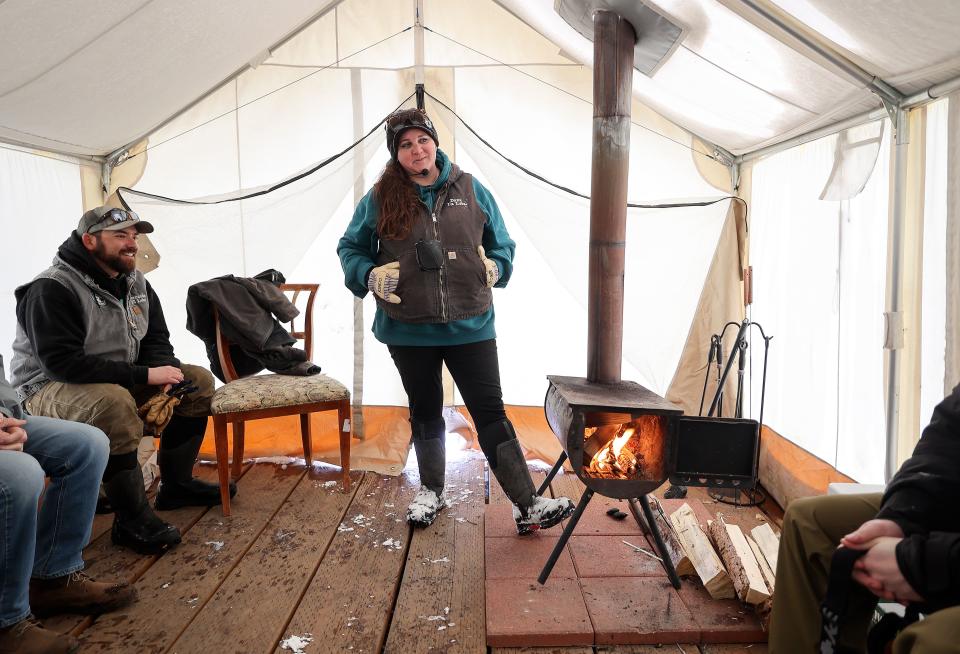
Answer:
[{"label": "bearded man's black rubber boot nearer the wooden chair", "polygon": [[[215,506],[220,504],[220,486],[201,481],[193,476],[206,417],[187,418],[175,415],[160,438],[157,465],[160,466],[160,487],[154,506],[158,511],[170,511],[184,506]],[[184,437],[184,432],[192,434]],[[179,442],[175,447],[164,443]],[[230,482],[230,497],[237,494],[237,485]]]}]

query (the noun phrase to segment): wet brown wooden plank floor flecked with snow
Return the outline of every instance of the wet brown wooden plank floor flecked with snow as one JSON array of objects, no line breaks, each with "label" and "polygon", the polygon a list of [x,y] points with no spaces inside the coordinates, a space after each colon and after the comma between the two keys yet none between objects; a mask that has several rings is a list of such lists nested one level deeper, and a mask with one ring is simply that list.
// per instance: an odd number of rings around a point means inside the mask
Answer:
[{"label": "wet brown wooden plank floor flecked with snow", "polygon": [[[215,468],[199,466],[212,480]],[[533,471],[535,484],[544,479]],[[134,583],[140,600],[96,618],[57,616],[82,652],[349,652],[430,654],[764,654],[763,645],[664,645],[489,649],[484,616],[485,503],[505,503],[478,456],[449,463],[449,507],[426,530],[404,513],[419,480],[354,472],[343,493],[332,467],[244,468],[233,516],[219,508],[165,512],[183,543],[140,556],[110,542],[98,517],[84,552],[98,579]],[[576,501],[583,485],[561,475],[550,488]],[[707,499],[691,489],[691,497]],[[775,505],[734,509],[743,523],[778,522]],[[720,507],[718,505],[718,510]],[[298,649],[299,647],[299,649]]]}]

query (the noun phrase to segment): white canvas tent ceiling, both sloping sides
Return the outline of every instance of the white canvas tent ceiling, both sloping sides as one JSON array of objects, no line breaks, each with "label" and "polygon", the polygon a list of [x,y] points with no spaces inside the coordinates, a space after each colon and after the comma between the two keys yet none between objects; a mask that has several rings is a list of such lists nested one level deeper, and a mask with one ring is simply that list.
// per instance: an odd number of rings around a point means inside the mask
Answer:
[{"label": "white canvas tent ceiling, both sloping sides", "polygon": [[[635,75],[635,93],[733,153],[880,106],[864,79],[791,36],[791,28],[904,95],[960,74],[956,0],[645,1],[686,31],[653,78]],[[553,0],[499,2],[558,51],[589,63],[591,45],[554,13]],[[109,153],[262,60],[336,4],[0,0],[0,140]],[[430,9],[435,16],[443,5]]]}]

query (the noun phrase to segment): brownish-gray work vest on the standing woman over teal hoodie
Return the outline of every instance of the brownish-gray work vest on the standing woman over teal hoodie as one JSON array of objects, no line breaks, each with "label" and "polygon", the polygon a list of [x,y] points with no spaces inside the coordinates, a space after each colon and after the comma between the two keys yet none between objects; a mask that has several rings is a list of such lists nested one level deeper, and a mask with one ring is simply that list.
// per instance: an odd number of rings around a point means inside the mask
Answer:
[{"label": "brownish-gray work vest on the standing woman over teal hoodie", "polygon": [[[445,323],[487,311],[493,293],[477,252],[486,222],[473,193],[473,177],[454,165],[437,193],[433,214],[423,206],[406,238],[380,241],[377,265],[400,262],[396,294],[401,302],[390,304],[376,297],[377,306],[394,320],[410,323]],[[416,244],[421,239],[440,241],[442,269],[420,269]]]}]

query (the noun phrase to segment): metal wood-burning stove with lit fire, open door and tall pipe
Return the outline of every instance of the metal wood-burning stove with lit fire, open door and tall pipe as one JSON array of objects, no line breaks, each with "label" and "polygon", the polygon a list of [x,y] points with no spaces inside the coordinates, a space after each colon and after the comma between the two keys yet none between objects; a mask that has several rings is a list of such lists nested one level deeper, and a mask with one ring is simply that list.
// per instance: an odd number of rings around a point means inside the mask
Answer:
[{"label": "metal wood-burning stove with lit fire, open door and tall pipe", "polygon": [[540,573],[541,584],[593,494],[601,493],[629,500],[634,517],[652,535],[670,581],[679,588],[647,494],[667,479],[690,486],[747,488],[756,483],[757,422],[687,418],[664,398],[620,378],[634,24],[643,25],[645,7],[623,3],[633,24],[599,6],[593,14],[587,378],[549,377],[544,410],[563,454],[538,493],[568,458],[587,488]]}]

